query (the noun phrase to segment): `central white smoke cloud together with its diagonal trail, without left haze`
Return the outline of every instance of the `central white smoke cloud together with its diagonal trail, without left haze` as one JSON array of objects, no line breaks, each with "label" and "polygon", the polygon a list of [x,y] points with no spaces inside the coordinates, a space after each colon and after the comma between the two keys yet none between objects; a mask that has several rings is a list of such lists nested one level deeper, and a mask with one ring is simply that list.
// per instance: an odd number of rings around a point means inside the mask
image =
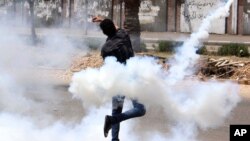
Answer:
[{"label": "central white smoke cloud together with its diagonal trail, without left haze", "polygon": [[[227,16],[232,2],[229,0],[204,19],[198,32],[179,47],[169,62],[168,72],[152,58],[134,57],[123,65],[109,57],[100,69],[88,68],[76,73],[69,91],[80,98],[86,108],[100,107],[117,94],[138,98],[147,108],[163,107],[161,114],[169,122],[162,124],[170,124],[170,134],[156,131],[151,138],[143,140],[197,140],[200,129],[220,126],[240,101],[237,84],[184,79],[194,72],[193,66],[199,58],[196,50],[209,36],[210,23]],[[139,135],[136,138],[140,138]]]}]

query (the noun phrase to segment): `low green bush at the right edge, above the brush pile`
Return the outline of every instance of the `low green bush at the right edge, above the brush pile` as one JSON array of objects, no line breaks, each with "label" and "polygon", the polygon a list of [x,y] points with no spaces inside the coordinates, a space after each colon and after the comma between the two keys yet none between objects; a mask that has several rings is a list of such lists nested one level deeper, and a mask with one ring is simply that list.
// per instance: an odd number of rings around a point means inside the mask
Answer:
[{"label": "low green bush at the right edge, above the brush pile", "polygon": [[218,50],[218,55],[235,55],[238,57],[249,56],[248,47],[244,44],[225,44]]}]

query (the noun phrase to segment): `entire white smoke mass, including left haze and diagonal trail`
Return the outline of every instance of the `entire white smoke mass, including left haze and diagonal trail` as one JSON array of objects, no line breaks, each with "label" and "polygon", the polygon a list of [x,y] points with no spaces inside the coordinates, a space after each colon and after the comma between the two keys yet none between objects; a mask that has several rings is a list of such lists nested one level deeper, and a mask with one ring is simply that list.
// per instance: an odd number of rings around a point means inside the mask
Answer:
[{"label": "entire white smoke mass, including left haze and diagonal trail", "polygon": [[[208,17],[223,16],[231,3]],[[122,124],[121,139],[196,141],[200,129],[220,126],[240,101],[238,86],[231,82],[184,79],[192,74],[189,67],[198,59],[193,47],[208,36],[214,18],[179,48],[169,71],[150,57],[131,58],[126,66],[110,57],[100,69],[75,73],[69,91],[76,99],[55,89],[46,72],[37,72],[67,68],[71,57],[79,53],[78,45],[55,33],[34,47],[5,25],[0,28],[0,140],[110,140],[110,135],[103,136],[103,118],[111,112],[111,97],[123,94],[125,103],[138,98],[148,112]],[[125,104],[124,111],[129,108]],[[144,123],[147,119],[160,120]],[[152,128],[159,122],[166,127],[163,131]]]}]

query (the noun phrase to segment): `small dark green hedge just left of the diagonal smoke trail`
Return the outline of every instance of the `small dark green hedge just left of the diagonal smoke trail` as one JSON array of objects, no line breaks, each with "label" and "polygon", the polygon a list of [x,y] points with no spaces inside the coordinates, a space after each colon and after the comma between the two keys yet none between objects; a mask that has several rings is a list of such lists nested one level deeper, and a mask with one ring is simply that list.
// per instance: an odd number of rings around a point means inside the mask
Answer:
[{"label": "small dark green hedge just left of the diagonal smoke trail", "polygon": [[160,41],[158,51],[160,52],[174,52],[175,47],[181,46],[182,42],[175,41]]}]

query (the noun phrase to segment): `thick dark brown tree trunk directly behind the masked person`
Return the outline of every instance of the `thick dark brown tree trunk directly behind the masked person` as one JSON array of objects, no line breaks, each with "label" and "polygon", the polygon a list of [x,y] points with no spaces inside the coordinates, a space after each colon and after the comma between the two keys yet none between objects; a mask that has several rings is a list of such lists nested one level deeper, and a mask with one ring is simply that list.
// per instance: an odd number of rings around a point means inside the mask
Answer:
[{"label": "thick dark brown tree trunk directly behind the masked person", "polygon": [[124,28],[127,29],[131,37],[132,46],[135,52],[141,52],[140,21],[139,21],[140,0],[125,0],[125,22]]}]

